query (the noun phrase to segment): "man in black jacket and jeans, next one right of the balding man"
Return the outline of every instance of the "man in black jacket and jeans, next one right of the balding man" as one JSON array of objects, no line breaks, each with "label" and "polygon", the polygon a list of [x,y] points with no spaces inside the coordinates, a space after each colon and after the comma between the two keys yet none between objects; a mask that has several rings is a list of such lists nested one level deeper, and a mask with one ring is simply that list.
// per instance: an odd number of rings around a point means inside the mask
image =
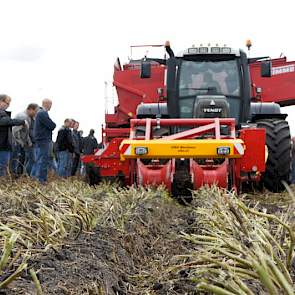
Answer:
[{"label": "man in black jacket and jeans, next one right of the balding man", "polygon": [[57,171],[61,177],[71,174],[71,159],[74,152],[71,124],[72,120],[66,119],[64,125],[59,129],[56,139]]}]

